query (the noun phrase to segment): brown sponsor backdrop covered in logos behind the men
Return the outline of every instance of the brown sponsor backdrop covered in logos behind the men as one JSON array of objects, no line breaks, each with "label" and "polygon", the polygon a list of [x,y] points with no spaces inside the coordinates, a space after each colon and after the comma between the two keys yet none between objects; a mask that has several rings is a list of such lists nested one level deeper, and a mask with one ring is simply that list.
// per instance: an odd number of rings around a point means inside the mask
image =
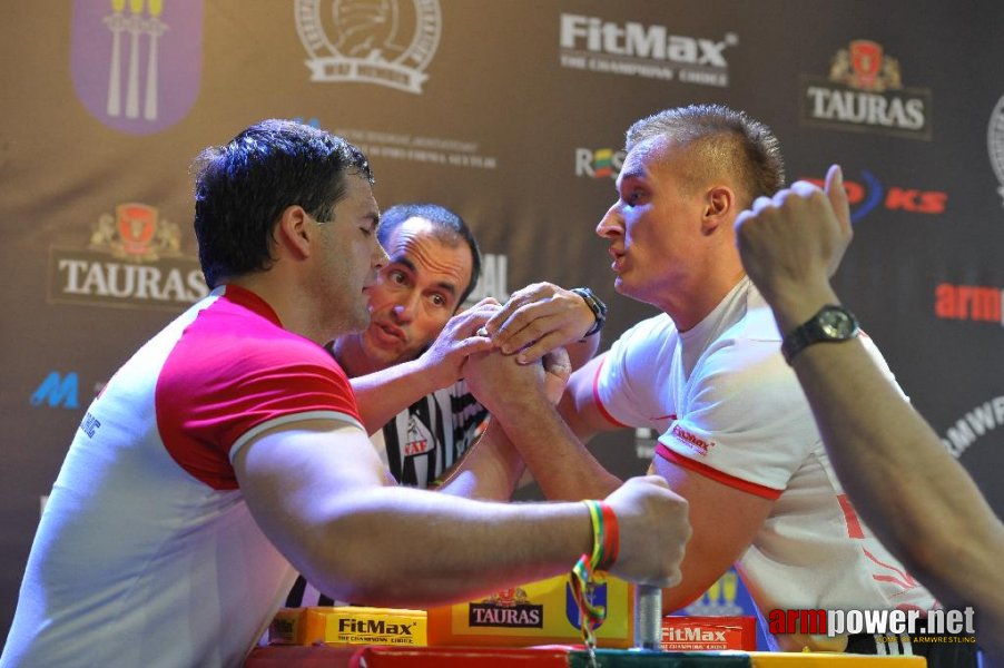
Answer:
[{"label": "brown sponsor backdrop covered in logos behind the men", "polygon": [[[10,4],[0,629],[88,403],[207,293],[193,159],[265,118],[358,145],[382,207],[460,213],[485,253],[472,299],[537,281],[590,286],[610,307],[604,348],[654,313],[614,293],[594,233],[616,198],[624,130],[690,102],[747,110],[780,139],[788,181],[843,165],[855,239],[836,287],[1004,511],[1000,0]],[[616,432],[591,448],[639,474],[654,435]],[[735,573],[717,587],[700,611],[750,609]]]}]

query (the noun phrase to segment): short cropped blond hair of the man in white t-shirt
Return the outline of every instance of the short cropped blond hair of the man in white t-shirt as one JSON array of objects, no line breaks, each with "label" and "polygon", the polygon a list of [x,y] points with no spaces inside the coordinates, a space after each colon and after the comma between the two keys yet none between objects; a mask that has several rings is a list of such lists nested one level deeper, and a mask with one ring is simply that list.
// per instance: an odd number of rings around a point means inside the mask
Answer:
[{"label": "short cropped blond hair of the man in white t-shirt", "polygon": [[667,135],[699,151],[696,179],[728,171],[746,186],[752,204],[757,197],[770,197],[785,185],[785,164],[774,132],[745,111],[724,105],[690,105],[666,109],[642,118],[627,132],[626,149]]}]

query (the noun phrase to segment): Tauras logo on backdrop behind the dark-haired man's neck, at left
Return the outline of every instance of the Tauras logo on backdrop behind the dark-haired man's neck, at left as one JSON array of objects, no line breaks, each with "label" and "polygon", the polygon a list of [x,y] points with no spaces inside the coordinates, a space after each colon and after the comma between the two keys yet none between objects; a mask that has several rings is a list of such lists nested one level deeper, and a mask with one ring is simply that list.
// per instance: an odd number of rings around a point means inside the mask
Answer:
[{"label": "Tauras logo on backdrop behind the dark-haired man's neck, at left", "polygon": [[98,217],[86,249],[50,249],[50,303],[176,310],[209,293],[177,225],[145,204],[115,210]]}]

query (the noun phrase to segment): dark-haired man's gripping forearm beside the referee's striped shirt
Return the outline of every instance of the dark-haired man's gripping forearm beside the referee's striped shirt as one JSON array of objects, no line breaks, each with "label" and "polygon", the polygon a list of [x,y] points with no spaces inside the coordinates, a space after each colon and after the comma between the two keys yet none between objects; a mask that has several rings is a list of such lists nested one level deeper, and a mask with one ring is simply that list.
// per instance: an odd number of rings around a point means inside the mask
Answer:
[{"label": "dark-haired man's gripping forearm beside the referee's striped shirt", "polygon": [[496,420],[466,452],[440,488],[444,494],[508,501],[525,470],[520,453]]}]

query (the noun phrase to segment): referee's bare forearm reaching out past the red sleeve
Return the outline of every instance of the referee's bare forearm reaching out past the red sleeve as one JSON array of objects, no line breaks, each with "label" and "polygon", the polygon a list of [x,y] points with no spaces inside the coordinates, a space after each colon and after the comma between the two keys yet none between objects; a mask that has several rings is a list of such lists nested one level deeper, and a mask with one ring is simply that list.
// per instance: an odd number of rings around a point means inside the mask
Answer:
[{"label": "referee's bare forearm reaching out past the red sleeve", "polygon": [[421,360],[395,364],[350,381],[366,433],[374,433],[426,394],[440,389]]}]

